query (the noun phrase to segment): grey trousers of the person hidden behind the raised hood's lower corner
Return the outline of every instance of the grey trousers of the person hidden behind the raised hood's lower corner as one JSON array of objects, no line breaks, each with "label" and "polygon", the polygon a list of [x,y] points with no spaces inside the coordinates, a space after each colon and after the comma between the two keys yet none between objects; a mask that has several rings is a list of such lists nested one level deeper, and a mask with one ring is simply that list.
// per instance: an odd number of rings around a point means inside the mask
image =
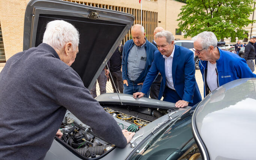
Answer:
[{"label": "grey trousers of the person hidden behind the raised hood's lower corner", "polygon": [[[100,73],[100,76],[98,77],[97,80],[98,80],[98,83],[99,83],[99,86],[100,86],[100,94],[107,93],[106,92],[107,77],[105,76],[105,70],[103,70]],[[94,85],[92,86],[92,89],[90,90],[90,93],[91,93],[93,98],[97,97],[96,81],[95,81]]]}]

